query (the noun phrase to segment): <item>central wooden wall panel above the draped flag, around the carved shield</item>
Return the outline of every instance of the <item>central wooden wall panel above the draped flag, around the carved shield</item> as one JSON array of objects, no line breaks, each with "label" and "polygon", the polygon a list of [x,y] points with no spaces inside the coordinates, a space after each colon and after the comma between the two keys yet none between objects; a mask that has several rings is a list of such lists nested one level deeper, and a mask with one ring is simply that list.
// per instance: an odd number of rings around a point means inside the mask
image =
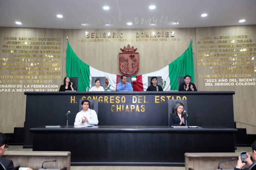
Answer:
[{"label": "central wooden wall panel above the draped flag, around the carved shield", "polygon": [[[152,32],[170,32],[174,31],[174,37],[160,37],[167,41],[148,41],[148,42],[136,42],[136,33],[152,33]],[[114,38],[97,38],[103,39],[104,42],[78,42],[79,39],[90,40],[92,38],[86,38],[85,32],[88,33],[100,33],[110,32],[110,33],[123,33],[122,39],[133,39],[130,42],[115,42]],[[134,29],[134,30],[64,30],[64,38],[68,37],[68,41],[76,55],[86,64],[98,69],[100,71],[118,74],[118,53],[122,52],[120,48],[124,46],[127,47],[134,46],[138,48],[136,52],[140,54],[140,70],[137,75],[150,73],[157,71],[165,67],[166,65],[173,62],[176,58],[184,53],[189,47],[191,37],[195,42],[195,28],[182,28],[182,29]],[[95,39],[95,38],[94,38]],[[116,38],[117,39],[117,38]],[[138,38],[145,39],[145,38]],[[150,39],[150,37],[148,38]],[[151,38],[153,39],[153,38]],[[172,39],[179,39],[180,41],[172,41]],[[105,42],[110,40],[113,42]],[[66,42],[64,42],[64,46]],[[193,50],[195,50],[195,45],[193,45]],[[64,58],[66,55],[64,54]],[[194,56],[195,57],[195,56]],[[65,61],[64,61],[65,62]],[[196,63],[196,62],[195,62]],[[65,68],[64,68],[65,69]],[[65,70],[63,69],[63,73]],[[63,74],[64,75],[64,74]],[[195,69],[196,75],[196,69]]]}]

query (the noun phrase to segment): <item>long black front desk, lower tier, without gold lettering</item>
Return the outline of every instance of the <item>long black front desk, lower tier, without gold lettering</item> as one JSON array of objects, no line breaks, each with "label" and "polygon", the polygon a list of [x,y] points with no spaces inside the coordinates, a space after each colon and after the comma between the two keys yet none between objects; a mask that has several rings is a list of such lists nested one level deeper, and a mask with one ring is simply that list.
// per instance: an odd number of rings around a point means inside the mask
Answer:
[{"label": "long black front desk, lower tier, without gold lettering", "polygon": [[33,151],[70,151],[71,166],[185,166],[184,153],[235,152],[237,129],[168,126],[31,128]]}]

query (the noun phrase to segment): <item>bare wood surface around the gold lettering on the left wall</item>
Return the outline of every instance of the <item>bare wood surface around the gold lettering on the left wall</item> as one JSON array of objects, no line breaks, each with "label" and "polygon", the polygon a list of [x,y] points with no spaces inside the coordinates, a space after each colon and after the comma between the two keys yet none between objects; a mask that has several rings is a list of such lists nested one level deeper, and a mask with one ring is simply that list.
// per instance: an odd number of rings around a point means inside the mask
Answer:
[{"label": "bare wood surface around the gold lettering on the left wall", "polygon": [[[10,40],[7,40],[7,37]],[[13,38],[14,40],[11,40]],[[15,40],[16,38],[16,40]],[[19,40],[20,38],[20,40]],[[23,39],[22,39],[23,38]],[[24,40],[24,38],[36,38],[36,40]],[[43,39],[43,40],[39,40]],[[48,41],[48,39],[44,38],[55,38],[60,41],[53,41],[53,39]],[[6,68],[6,67],[13,67],[19,70],[3,70],[0,69],[0,132],[4,133],[11,133],[14,130],[14,127],[23,127],[24,122],[25,122],[25,109],[26,109],[26,96],[24,95],[24,92],[18,92],[19,89],[33,89],[34,91],[36,89],[38,90],[45,90],[47,91],[49,89],[52,90],[58,90],[59,86],[62,84],[62,51],[63,51],[63,30],[62,29],[36,29],[36,28],[11,28],[11,27],[0,27],[0,67],[1,68]],[[9,44],[11,42],[11,44]],[[13,44],[14,42],[14,44]],[[17,44],[15,44],[15,42]],[[25,43],[26,42],[26,43]],[[33,44],[35,42],[35,44]],[[44,44],[40,44],[44,42]],[[57,45],[47,45],[47,42],[51,43],[58,43]],[[25,44],[20,44],[20,43],[25,43]],[[30,44],[31,43],[31,44]],[[8,46],[8,48],[6,48]],[[21,46],[21,48],[18,48],[17,46]],[[39,49],[35,49],[34,47],[38,46]],[[59,57],[54,57],[55,54],[57,53],[43,53],[43,50],[50,50],[50,51],[56,51],[55,49],[42,49],[44,47],[55,47],[57,46],[60,49],[57,49],[58,51],[61,51],[61,53],[58,53]],[[13,47],[13,48],[9,48]],[[25,48],[24,48],[25,47]],[[27,48],[29,47],[29,48]],[[31,48],[30,48],[31,47]],[[7,52],[6,52],[7,50]],[[13,52],[8,52],[8,50],[13,50]],[[16,51],[14,51],[16,50]],[[18,50],[21,50],[20,52]],[[30,53],[25,53],[22,50],[29,50]],[[30,51],[30,50],[38,50],[36,51]],[[42,50],[42,53],[40,52]],[[16,54],[16,56],[14,56]],[[19,57],[17,57],[17,54],[19,54]],[[20,57],[20,54],[26,54],[30,57]],[[53,55],[53,57],[45,57],[44,55]],[[34,57],[34,55],[40,55],[39,57]],[[42,57],[41,57],[42,55]],[[12,61],[6,59],[12,59]],[[5,59],[5,60],[4,60]],[[30,59],[29,61],[14,61],[14,59]],[[36,60],[35,60],[36,59]],[[39,61],[37,60],[39,59]],[[42,61],[41,61],[42,59]],[[49,61],[43,61],[43,59],[54,59],[54,62],[49,62]],[[57,61],[55,61],[57,59]],[[31,61],[32,60],[32,61]],[[36,63],[39,64],[39,66],[31,66],[31,64]],[[57,66],[44,66],[44,64],[55,64],[57,63]],[[8,64],[8,65],[4,65]],[[16,65],[9,65],[9,64],[16,64]],[[24,64],[24,65],[23,65]],[[28,65],[26,65],[28,64]],[[42,65],[41,65],[42,64]],[[41,65],[41,66],[40,66]],[[57,71],[50,71],[50,70],[35,70],[37,67],[45,67],[45,68],[53,68],[53,67],[58,67],[60,70]],[[22,70],[22,68],[26,68],[25,70]],[[32,68],[34,70],[32,70]],[[30,69],[30,70],[29,70]],[[10,74],[9,72],[13,72],[13,74]],[[14,73],[16,72],[16,74]],[[18,74],[17,72],[25,72],[26,74]],[[37,74],[32,74],[29,75],[29,72],[38,72]],[[40,72],[40,73],[39,73]],[[60,72],[58,75],[48,75],[47,72]],[[44,75],[43,75],[44,73]],[[41,74],[41,75],[40,75]],[[15,78],[10,78],[8,77],[2,77],[2,76],[23,76],[21,79],[15,79]],[[25,76],[30,76],[30,79],[26,79]],[[32,79],[32,76],[34,79]],[[37,79],[35,79],[35,76],[37,76]],[[40,79],[39,76],[59,76],[60,79]],[[16,83],[16,82],[8,82],[9,81],[15,81],[15,80],[21,80],[22,83]],[[27,81],[30,80],[32,83],[28,83]],[[34,80],[39,80],[39,83],[34,83]],[[51,81],[47,83],[42,83],[40,80],[45,80],[45,81]],[[5,81],[5,82],[4,82]],[[23,82],[25,81],[25,82]],[[4,85],[4,87],[2,87]],[[16,87],[14,88],[9,88],[5,87],[5,85],[15,85]],[[18,88],[18,85],[22,85],[22,88]],[[24,86],[30,85],[29,88],[25,88]],[[43,88],[43,87],[31,87],[31,85],[58,85],[58,88]],[[5,92],[5,90],[10,89],[10,92]],[[3,90],[3,91],[2,91]],[[14,90],[12,92],[12,90]],[[38,101],[40,102],[40,101]],[[51,104],[49,104],[51,106]],[[33,107],[33,106],[30,106]],[[52,107],[52,106],[51,106]],[[36,114],[36,113],[35,113]]]}]

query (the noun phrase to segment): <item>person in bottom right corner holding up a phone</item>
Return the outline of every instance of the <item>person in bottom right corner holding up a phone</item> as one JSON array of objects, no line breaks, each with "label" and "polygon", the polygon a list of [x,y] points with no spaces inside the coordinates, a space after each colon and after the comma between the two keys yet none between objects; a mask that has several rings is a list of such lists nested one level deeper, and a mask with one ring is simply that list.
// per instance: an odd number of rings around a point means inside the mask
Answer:
[{"label": "person in bottom right corner holding up a phone", "polygon": [[[253,142],[253,144],[252,144],[252,159],[255,161],[256,160],[256,140]],[[242,167],[244,167],[246,164],[247,165],[249,165],[249,167],[248,168],[244,168],[244,170],[248,170],[249,168],[250,168],[250,166],[256,166],[255,165],[255,163],[256,162],[252,162],[251,161],[251,157],[250,157],[250,155],[248,155],[247,153],[246,153],[246,158],[245,158],[245,160],[246,160],[246,163],[242,163],[242,161],[241,161],[241,156],[239,156],[238,157],[238,161],[237,161],[237,165],[236,165],[236,167],[235,167],[235,169],[234,170],[240,170],[240,169],[242,169]],[[253,167],[253,168],[254,168]],[[256,168],[255,168],[256,169]]]}]

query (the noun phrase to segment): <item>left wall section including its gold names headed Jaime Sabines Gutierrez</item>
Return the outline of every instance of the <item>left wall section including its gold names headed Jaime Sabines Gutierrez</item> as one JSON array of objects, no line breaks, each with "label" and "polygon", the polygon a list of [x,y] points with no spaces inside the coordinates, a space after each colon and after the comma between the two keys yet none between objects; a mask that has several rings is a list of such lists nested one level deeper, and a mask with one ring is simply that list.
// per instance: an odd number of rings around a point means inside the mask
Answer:
[{"label": "left wall section including its gold names headed Jaime Sabines Gutierrez", "polygon": [[24,126],[25,91],[59,90],[63,30],[0,27],[0,32],[0,131],[12,132]]}]

